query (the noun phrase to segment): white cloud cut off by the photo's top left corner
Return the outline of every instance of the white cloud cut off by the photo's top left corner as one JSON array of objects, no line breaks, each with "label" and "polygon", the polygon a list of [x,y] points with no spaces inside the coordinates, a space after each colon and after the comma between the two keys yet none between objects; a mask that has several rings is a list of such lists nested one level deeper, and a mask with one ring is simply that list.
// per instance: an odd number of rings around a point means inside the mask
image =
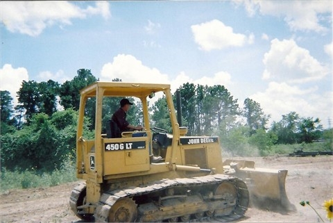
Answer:
[{"label": "white cloud cut off by the photo's top left corner", "polygon": [[96,2],[96,7],[82,9],[68,1],[1,1],[1,22],[8,31],[37,36],[47,26],[70,25],[71,19],[87,15],[110,17],[108,2]]}]

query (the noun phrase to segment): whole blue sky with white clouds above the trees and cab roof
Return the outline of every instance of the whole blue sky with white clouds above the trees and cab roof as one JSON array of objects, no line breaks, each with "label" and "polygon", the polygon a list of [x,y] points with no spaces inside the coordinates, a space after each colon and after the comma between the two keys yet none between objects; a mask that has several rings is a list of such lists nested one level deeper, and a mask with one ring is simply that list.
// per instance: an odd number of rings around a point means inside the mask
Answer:
[{"label": "whole blue sky with white clouds above the trees and cab roof", "polygon": [[100,81],[224,85],[270,123],[296,112],[333,127],[331,0],[0,1],[0,90]]}]

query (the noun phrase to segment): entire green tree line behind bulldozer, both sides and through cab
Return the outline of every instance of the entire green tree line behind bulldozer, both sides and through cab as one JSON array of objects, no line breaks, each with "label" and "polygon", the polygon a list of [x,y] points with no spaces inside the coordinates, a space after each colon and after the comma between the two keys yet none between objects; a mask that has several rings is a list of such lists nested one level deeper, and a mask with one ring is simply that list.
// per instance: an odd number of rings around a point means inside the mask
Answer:
[{"label": "entire green tree line behind bulldozer, both sides and through cab", "polygon": [[[51,171],[65,160],[74,159],[79,91],[95,81],[98,79],[89,69],[78,69],[74,79],[63,84],[23,81],[17,92],[17,106],[12,105],[8,91],[1,91],[1,168]],[[188,135],[219,135],[223,147],[232,154],[244,154],[244,148],[251,145],[263,155],[273,144],[309,143],[325,136],[320,119],[300,117],[293,111],[268,127],[270,115],[259,103],[247,98],[240,108],[223,85],[185,83],[178,91],[182,125],[187,126]],[[109,101],[103,107],[103,122],[119,108],[119,99],[105,100]],[[173,100],[176,104],[176,95]],[[95,106],[94,99],[87,101],[87,138],[94,135]],[[171,132],[165,98],[151,105],[150,111],[151,124]],[[138,115],[139,104],[128,112],[130,123],[138,122]]]}]

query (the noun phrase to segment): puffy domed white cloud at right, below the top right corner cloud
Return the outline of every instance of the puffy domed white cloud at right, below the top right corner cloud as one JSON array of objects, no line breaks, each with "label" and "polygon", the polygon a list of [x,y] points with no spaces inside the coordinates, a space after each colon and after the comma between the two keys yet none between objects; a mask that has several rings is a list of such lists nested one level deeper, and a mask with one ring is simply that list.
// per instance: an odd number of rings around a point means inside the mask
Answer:
[{"label": "puffy domed white cloud at right, below the top right corner cloud", "polygon": [[271,41],[271,49],[264,54],[263,79],[302,83],[323,79],[328,69],[313,58],[307,49],[293,40]]}]

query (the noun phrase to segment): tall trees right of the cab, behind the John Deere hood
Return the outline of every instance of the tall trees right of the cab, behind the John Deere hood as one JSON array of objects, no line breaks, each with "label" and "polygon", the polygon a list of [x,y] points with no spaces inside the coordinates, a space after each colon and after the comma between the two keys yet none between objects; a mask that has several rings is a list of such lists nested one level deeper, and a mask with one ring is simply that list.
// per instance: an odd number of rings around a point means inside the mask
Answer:
[{"label": "tall trees right of the cab, behind the John Deere hood", "polygon": [[268,127],[271,115],[265,114],[257,101],[246,98],[240,108],[237,99],[223,85],[185,83],[180,94],[182,117],[191,135],[212,134],[216,130],[219,135],[228,135],[232,129],[245,127],[249,137],[265,131],[279,144],[310,143],[323,136],[318,117],[300,117],[293,111]]}]

